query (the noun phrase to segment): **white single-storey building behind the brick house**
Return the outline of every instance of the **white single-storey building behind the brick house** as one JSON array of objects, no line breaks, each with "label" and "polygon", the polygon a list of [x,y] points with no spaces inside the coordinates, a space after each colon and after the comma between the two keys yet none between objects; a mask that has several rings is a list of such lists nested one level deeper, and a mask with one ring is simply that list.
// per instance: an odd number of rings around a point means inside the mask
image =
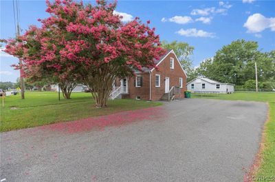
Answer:
[{"label": "white single-storey building behind the brick house", "polygon": [[187,83],[187,90],[199,93],[231,94],[234,92],[234,84],[221,83],[212,79],[197,77]]}]

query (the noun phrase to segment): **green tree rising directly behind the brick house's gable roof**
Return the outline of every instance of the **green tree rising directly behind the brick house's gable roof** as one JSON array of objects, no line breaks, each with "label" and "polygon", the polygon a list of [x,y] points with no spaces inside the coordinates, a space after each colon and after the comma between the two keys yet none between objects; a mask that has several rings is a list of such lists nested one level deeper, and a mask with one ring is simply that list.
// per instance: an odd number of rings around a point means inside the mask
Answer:
[{"label": "green tree rising directly behind the brick house's gable roof", "polygon": [[192,60],[190,59],[190,55],[193,54],[194,47],[190,46],[186,42],[177,42],[177,40],[170,43],[163,40],[162,47],[168,50],[173,49],[187,75],[189,76],[189,74],[192,74]]}]

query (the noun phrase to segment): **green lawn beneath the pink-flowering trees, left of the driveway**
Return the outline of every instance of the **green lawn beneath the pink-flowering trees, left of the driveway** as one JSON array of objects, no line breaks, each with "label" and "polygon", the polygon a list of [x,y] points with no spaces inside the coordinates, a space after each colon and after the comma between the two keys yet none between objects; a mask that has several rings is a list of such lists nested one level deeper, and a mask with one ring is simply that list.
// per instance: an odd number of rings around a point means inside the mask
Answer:
[{"label": "green lawn beneath the pink-flowering trees, left of the driveway", "polygon": [[[153,107],[162,103],[115,99],[107,104],[108,107],[104,109],[96,108],[91,93],[83,92],[72,93],[72,99],[62,98],[61,101],[58,101],[56,92],[26,92],[24,100],[19,95],[7,96],[5,97],[5,106],[2,107],[1,103],[0,107],[0,131],[102,116],[126,110]],[[11,109],[12,107],[17,109]]]}]

